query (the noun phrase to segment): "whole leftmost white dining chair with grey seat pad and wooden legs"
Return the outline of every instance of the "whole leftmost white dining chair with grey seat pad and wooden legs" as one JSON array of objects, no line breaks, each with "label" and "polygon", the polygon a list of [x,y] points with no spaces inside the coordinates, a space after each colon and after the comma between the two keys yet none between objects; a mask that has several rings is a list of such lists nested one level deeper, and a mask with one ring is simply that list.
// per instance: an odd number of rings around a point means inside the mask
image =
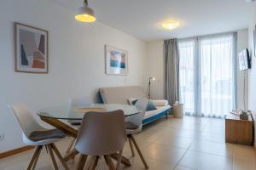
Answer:
[{"label": "whole leftmost white dining chair with grey seat pad and wooden legs", "polygon": [[32,159],[27,167],[27,170],[35,169],[37,166],[38,158],[40,156],[43,147],[49,151],[53,166],[55,170],[58,169],[58,165],[55,161],[55,155],[61,161],[62,166],[68,169],[66,162],[63,160],[61,153],[55,146],[55,142],[66,137],[66,134],[59,129],[47,129],[41,127],[36,119],[32,116],[32,113],[28,111],[26,105],[8,105],[10,111],[16,116],[20,128],[22,130],[23,142],[27,145],[36,146],[36,150],[32,156]]}]

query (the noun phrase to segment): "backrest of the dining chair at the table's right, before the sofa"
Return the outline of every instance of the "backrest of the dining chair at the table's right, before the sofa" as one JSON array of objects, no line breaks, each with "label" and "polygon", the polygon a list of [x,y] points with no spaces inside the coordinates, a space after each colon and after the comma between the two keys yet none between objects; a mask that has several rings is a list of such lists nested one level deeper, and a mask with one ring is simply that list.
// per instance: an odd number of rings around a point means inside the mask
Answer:
[{"label": "backrest of the dining chair at the table's right, before the sofa", "polygon": [[137,107],[138,110],[142,112],[137,115],[128,116],[126,122],[132,122],[133,124],[137,125],[137,130],[140,131],[142,130],[143,127],[143,117],[148,106],[148,99],[138,99],[135,106]]}]

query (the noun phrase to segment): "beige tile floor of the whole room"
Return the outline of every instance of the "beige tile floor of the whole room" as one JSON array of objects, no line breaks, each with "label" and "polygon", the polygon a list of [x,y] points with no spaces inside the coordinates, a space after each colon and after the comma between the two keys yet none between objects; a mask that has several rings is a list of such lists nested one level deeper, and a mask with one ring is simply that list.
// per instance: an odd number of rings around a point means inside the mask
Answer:
[{"label": "beige tile floor of the whole room", "polygon": [[[252,147],[224,143],[224,120],[193,116],[161,119],[143,128],[143,132],[135,138],[148,161],[149,169],[256,170],[256,156]],[[57,143],[62,153],[68,142],[69,139],[64,139]],[[0,170],[26,169],[32,151],[0,160]],[[128,144],[125,145],[124,155],[131,160],[132,166],[121,169],[144,169],[137,153],[135,157],[131,156]],[[68,167],[75,169],[76,161],[68,162]],[[37,169],[53,169],[45,150],[39,158]],[[96,169],[108,169],[103,159]]]}]

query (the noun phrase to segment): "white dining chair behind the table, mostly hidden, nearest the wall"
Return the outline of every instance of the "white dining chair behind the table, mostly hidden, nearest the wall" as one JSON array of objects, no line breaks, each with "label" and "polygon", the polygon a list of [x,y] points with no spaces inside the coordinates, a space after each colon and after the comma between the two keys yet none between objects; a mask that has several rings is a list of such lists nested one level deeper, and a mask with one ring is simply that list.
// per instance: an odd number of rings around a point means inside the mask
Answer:
[{"label": "white dining chair behind the table, mostly hidden, nearest the wall", "polygon": [[[71,109],[78,108],[83,105],[84,106],[90,105],[90,104],[92,104],[92,100],[88,96],[74,97],[73,99],[70,99],[70,101],[69,101],[69,105],[70,105]],[[79,130],[82,120],[67,120],[67,122]],[[70,143],[67,146],[66,154],[69,154],[70,150],[73,148],[75,141],[76,141],[76,139],[72,139],[70,141]]]}]

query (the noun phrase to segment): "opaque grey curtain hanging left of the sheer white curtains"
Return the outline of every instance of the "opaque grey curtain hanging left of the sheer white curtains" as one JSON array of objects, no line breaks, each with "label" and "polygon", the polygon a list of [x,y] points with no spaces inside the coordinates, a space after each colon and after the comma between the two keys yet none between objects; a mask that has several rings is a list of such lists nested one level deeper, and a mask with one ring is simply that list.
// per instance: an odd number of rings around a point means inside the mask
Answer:
[{"label": "opaque grey curtain hanging left of the sheer white curtains", "polygon": [[170,105],[178,99],[178,48],[177,39],[164,42],[165,98]]}]

